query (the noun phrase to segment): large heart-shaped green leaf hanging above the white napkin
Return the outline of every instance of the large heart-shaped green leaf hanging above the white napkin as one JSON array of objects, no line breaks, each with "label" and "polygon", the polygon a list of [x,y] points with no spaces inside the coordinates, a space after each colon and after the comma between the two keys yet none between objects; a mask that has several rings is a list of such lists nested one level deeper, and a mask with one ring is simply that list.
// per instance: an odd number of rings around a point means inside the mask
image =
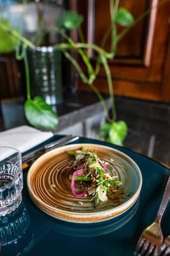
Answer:
[{"label": "large heart-shaped green leaf hanging above the white napkin", "polygon": [[25,116],[32,126],[52,130],[57,129],[58,116],[41,97],[34,97],[34,100],[26,100]]}]

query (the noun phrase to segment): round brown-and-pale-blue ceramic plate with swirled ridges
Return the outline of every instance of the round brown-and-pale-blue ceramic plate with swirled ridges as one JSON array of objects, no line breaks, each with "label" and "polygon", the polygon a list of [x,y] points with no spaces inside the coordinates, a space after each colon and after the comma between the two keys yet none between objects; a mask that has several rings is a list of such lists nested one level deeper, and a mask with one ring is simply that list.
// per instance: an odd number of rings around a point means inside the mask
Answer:
[{"label": "round brown-and-pale-blue ceramic plate with swirled ridges", "polygon": [[[119,206],[111,206],[114,201],[108,199],[94,209],[93,202],[89,202],[91,197],[73,195],[69,180],[73,170],[67,167],[74,157],[68,156],[67,151],[75,151],[82,146],[97,151],[98,156],[108,162],[106,170],[121,180],[123,185],[119,191],[130,193],[130,196],[122,198],[123,202]],[[29,169],[27,185],[32,200],[45,213],[69,222],[92,223],[114,218],[127,211],[140,194],[142,175],[137,164],[119,150],[96,144],[73,144],[53,149],[38,158]],[[79,188],[78,181],[75,181],[75,188]],[[83,202],[83,205],[79,205],[78,201]]]}]

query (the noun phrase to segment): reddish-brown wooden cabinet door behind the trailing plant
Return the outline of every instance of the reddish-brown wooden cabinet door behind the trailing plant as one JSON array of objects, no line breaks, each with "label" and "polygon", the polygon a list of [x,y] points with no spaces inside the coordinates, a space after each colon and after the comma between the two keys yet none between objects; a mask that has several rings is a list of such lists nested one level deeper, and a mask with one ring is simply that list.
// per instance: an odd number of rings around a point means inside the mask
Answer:
[{"label": "reddish-brown wooden cabinet door behind the trailing plant", "polygon": [[[160,0],[120,0],[119,7],[128,9],[136,19]],[[88,43],[101,44],[106,29],[111,23],[109,0],[77,0],[78,12],[83,14],[83,31]],[[121,39],[114,60],[109,60],[114,93],[128,97],[170,102],[170,2],[153,8],[150,14],[137,23]],[[123,27],[118,26],[117,31]],[[105,49],[110,50],[111,36]],[[95,66],[94,52],[90,51]],[[86,67],[81,62],[81,67]],[[106,74],[100,68],[94,85],[100,92],[108,93]],[[79,80],[79,89],[90,90]]]}]

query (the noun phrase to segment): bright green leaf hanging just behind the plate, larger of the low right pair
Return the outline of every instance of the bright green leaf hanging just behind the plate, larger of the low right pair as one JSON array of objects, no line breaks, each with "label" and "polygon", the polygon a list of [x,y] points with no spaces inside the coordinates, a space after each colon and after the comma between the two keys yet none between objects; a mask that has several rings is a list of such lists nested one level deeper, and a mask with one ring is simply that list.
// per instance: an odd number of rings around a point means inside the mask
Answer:
[{"label": "bright green leaf hanging just behind the plate, larger of the low right pair", "polygon": [[123,146],[127,136],[127,124],[124,121],[114,122],[109,130],[109,139],[112,144]]}]

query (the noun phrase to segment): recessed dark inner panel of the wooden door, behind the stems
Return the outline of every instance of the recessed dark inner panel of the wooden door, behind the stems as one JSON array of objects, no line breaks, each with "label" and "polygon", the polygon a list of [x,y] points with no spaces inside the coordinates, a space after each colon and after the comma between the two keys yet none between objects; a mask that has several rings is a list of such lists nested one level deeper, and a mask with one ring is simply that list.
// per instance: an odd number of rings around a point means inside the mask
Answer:
[{"label": "recessed dark inner panel of the wooden door, behind the stems", "polygon": [[[120,7],[125,7],[134,14],[135,19],[141,15],[147,5],[147,0],[136,1],[136,0],[120,0]],[[97,45],[101,44],[102,37],[106,32],[106,28],[110,26],[110,6],[108,0],[97,0],[95,4],[95,27],[94,27],[94,43]],[[117,47],[116,56],[121,57],[138,57],[142,56],[142,44],[143,44],[143,28],[144,20],[139,22],[137,26],[133,27],[131,31],[120,41]],[[123,29],[122,26],[118,26],[118,34]],[[110,51],[111,36],[106,41],[105,50]]]}]

